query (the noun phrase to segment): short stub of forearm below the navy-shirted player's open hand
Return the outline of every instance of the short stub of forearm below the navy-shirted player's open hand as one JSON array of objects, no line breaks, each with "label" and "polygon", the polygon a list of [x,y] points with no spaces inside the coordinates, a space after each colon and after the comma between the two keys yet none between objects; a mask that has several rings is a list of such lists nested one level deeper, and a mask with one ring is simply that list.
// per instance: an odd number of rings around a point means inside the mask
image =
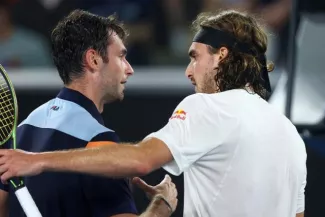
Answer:
[{"label": "short stub of forearm below the navy-shirted player's open hand", "polygon": [[147,210],[139,217],[169,217],[171,214],[172,210],[167,204],[162,199],[154,197]]}]

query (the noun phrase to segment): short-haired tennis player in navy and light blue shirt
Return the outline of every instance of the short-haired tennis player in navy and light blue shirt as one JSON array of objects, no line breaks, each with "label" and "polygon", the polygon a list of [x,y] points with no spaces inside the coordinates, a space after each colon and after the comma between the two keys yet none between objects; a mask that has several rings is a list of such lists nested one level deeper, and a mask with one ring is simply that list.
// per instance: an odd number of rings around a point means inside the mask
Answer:
[{"label": "short-haired tennis player in navy and light blue shirt", "polygon": [[[104,126],[101,112],[104,104],[123,99],[124,84],[133,74],[125,37],[114,17],[80,10],[56,26],[53,59],[65,87],[18,126],[20,149],[44,152],[119,143],[118,135]],[[140,216],[170,216],[177,204],[171,179],[166,177],[155,187],[136,180],[152,199]],[[43,217],[138,215],[128,179],[48,172],[28,177],[25,183]],[[12,189],[0,184],[0,217],[7,212],[10,217],[25,216]]]}]

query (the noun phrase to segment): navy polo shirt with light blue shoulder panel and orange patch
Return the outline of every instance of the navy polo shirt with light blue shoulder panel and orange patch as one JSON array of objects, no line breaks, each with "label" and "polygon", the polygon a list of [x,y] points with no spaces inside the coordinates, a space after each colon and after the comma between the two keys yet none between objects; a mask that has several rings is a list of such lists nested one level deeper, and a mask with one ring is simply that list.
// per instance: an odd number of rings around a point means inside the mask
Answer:
[{"label": "navy polo shirt with light blue shoulder panel and orange patch", "polygon": [[[104,126],[95,104],[63,88],[55,99],[35,109],[17,129],[17,146],[31,152],[83,148],[103,141],[119,142]],[[25,184],[44,217],[109,217],[137,214],[127,179],[77,173],[46,172],[26,177]],[[10,217],[25,216],[11,188]]]}]

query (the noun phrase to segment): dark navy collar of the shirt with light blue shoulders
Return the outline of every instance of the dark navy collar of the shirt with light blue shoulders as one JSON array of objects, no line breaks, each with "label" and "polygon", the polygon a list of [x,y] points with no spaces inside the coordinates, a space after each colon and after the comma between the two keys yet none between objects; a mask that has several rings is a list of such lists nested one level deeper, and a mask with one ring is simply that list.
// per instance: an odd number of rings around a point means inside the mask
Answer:
[{"label": "dark navy collar of the shirt with light blue shoulders", "polygon": [[93,118],[95,118],[100,124],[104,125],[103,117],[99,113],[94,102],[80,92],[64,87],[57,95],[57,97],[80,105],[86,109],[91,114],[91,116],[93,116]]}]

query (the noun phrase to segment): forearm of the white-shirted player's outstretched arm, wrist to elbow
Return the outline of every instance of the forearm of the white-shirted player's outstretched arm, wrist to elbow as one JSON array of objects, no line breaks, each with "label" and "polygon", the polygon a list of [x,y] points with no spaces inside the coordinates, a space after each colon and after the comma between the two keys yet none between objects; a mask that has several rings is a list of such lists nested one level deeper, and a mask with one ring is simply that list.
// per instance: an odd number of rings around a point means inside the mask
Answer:
[{"label": "forearm of the white-shirted player's outstretched arm, wrist to elbow", "polygon": [[90,149],[47,152],[36,155],[43,171],[80,172],[110,177],[147,173],[146,154],[136,145],[108,145]]}]

